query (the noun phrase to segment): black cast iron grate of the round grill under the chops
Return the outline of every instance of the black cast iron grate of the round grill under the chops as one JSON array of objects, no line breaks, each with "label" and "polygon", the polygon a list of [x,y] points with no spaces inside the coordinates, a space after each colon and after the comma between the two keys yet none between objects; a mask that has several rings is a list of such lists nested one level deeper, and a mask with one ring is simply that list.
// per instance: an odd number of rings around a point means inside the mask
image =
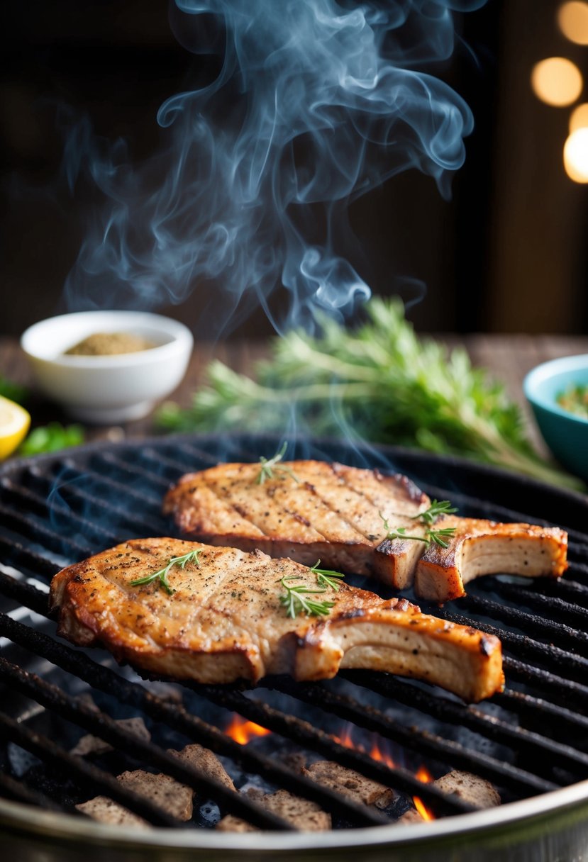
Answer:
[{"label": "black cast iron grate of the round grill under the chops", "polygon": [[[319,803],[344,826],[391,822],[401,809],[380,812],[353,803],[301,775],[288,765],[285,751],[294,746],[311,757],[336,760],[393,788],[398,798],[419,796],[436,816],[470,808],[416,778],[415,765],[426,765],[433,775],[448,769],[474,772],[495,784],[505,802],[588,778],[588,535],[583,532],[588,502],[490,468],[333,440],[292,443],[288,452],[289,458],[405,472],[431,497],[452,500],[462,515],[568,529],[571,566],[560,582],[488,578],[443,609],[423,606],[501,637],[507,688],[488,702],[468,706],[426,684],[345,671],[323,684],[267,678],[255,690],[182,685],[178,703],[168,699],[166,690],[116,667],[105,653],[74,649],[56,639],[47,618],[47,584],[54,572],[122,540],[176,534],[160,514],[160,502],[180,475],[219,460],[270,457],[278,443],[242,435],[165,438],[97,445],[3,467],[0,728],[2,739],[18,746],[13,753],[24,749],[36,760],[33,768],[16,774],[4,746],[0,796],[75,811],[76,801],[103,794],[154,825],[183,826],[114,778],[121,763],[124,768],[147,765],[190,785],[199,799],[214,800],[221,813],[260,828],[291,828],[247,795],[227,790],[167,753],[170,742],[178,746],[181,741],[200,742],[247,776],[261,776],[266,784]],[[88,702],[88,691],[98,708]],[[272,731],[270,745],[281,754],[230,739],[222,731],[227,710]],[[153,740],[115,721],[127,714],[145,716],[155,730]],[[394,764],[335,738],[346,722],[354,732],[359,728],[364,749],[373,734],[390,743]],[[69,753],[71,740],[82,731],[108,741],[115,754],[92,762]]]}]

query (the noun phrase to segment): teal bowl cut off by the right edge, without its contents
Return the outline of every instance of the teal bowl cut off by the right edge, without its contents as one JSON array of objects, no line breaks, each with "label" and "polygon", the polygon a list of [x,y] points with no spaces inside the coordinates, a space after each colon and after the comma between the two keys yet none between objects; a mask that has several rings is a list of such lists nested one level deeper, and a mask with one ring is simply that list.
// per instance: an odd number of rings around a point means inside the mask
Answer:
[{"label": "teal bowl cut off by the right edge, without its contents", "polygon": [[555,458],[588,481],[588,419],[570,413],[556,401],[574,384],[588,386],[588,354],[537,365],[524,379],[522,389]]}]

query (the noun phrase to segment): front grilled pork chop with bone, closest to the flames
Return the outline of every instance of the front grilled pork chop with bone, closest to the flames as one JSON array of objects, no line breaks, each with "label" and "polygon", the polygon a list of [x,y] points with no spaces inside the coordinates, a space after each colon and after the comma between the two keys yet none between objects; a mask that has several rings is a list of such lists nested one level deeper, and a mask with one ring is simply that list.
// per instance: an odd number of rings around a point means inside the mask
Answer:
[{"label": "front grilled pork chop with bone, closest to the flames", "polygon": [[[169,594],[155,578],[168,567]],[[287,578],[286,580],[284,580]],[[119,661],[203,683],[253,682],[267,673],[328,679],[340,667],[428,680],[478,701],[503,684],[500,641],[341,583],[306,598],[332,602],[327,615],[280,602],[287,587],[322,589],[316,572],[291,559],[177,539],[134,539],[55,575],[51,604],[59,634],[107,647]]]}]

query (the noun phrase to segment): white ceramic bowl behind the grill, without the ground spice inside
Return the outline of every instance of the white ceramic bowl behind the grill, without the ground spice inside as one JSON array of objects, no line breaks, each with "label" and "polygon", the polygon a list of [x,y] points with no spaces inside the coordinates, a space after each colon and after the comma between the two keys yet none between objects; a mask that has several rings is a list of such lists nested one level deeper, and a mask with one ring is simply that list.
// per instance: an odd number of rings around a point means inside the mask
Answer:
[{"label": "white ceramic bowl behind the grill, without the ground spice inside", "polygon": [[[65,355],[95,333],[141,335],[158,347],[113,356]],[[75,419],[96,424],[147,415],[181,382],[193,338],[183,323],[143,311],[80,311],[50,317],[21,338],[39,389]]]}]

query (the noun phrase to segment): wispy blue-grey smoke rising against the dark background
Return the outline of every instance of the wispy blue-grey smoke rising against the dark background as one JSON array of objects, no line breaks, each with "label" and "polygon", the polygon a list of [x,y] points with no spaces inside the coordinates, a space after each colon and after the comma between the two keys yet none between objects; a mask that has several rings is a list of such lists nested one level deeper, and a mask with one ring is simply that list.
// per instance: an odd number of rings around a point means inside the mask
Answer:
[{"label": "wispy blue-grey smoke rising against the dark background", "polygon": [[164,146],[140,165],[87,120],[68,134],[70,188],[84,176],[103,196],[68,309],[156,309],[213,283],[227,319],[259,304],[272,319],[275,290],[278,331],[345,317],[370,294],[344,256],[348,203],[408,168],[447,197],[463,163],[471,112],[419,69],[453,52],[453,11],[483,3],[176,0],[174,32],[195,51],[182,20],[216,34],[221,71],[161,105]]}]

